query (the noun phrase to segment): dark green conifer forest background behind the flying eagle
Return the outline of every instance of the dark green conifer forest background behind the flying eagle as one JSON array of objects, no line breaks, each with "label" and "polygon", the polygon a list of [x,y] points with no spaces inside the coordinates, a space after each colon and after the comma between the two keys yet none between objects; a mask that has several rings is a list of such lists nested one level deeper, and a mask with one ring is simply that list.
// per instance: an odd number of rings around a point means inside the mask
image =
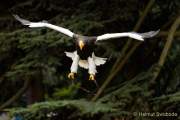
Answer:
[{"label": "dark green conifer forest background behind the flying eagle", "polygon": [[[102,42],[99,88],[79,68],[67,78],[73,40],[28,28],[12,14],[83,35],[158,30],[145,42]],[[139,112],[180,114],[179,0],[6,0],[0,2],[0,110],[17,120],[151,120]]]}]

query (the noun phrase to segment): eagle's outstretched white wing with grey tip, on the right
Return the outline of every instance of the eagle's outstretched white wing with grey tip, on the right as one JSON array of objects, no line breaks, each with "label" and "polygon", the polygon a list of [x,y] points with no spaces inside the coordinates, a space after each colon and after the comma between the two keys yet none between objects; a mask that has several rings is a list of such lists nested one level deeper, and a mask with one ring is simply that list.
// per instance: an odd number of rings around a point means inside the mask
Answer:
[{"label": "eagle's outstretched white wing with grey tip, on the right", "polygon": [[130,37],[136,40],[144,41],[144,38],[151,38],[158,34],[159,30],[157,31],[150,31],[146,33],[137,33],[137,32],[123,32],[123,33],[111,33],[111,34],[104,34],[97,37],[97,41],[99,40],[108,40],[112,38],[120,38],[120,37]]}]

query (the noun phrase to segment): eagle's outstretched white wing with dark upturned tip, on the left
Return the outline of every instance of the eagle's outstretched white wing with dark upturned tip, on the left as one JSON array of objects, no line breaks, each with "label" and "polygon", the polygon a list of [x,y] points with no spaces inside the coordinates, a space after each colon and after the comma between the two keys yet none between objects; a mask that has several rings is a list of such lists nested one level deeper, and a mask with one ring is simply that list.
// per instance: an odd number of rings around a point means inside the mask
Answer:
[{"label": "eagle's outstretched white wing with dark upturned tip, on the left", "polygon": [[74,33],[71,32],[70,30],[68,29],[65,29],[63,27],[59,27],[59,26],[56,26],[56,25],[52,25],[52,24],[49,24],[47,22],[31,22],[29,20],[25,20],[25,19],[22,19],[20,18],[18,15],[13,15],[19,22],[21,22],[23,25],[27,25],[29,27],[47,27],[47,28],[51,28],[53,30],[56,30],[56,31],[59,31],[69,37],[73,37]]}]

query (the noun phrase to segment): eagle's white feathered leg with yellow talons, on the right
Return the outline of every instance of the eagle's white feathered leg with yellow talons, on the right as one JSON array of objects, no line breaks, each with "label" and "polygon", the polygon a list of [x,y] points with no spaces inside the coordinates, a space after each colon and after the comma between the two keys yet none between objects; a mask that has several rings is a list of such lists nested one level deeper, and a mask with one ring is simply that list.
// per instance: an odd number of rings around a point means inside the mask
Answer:
[{"label": "eagle's white feathered leg with yellow talons, on the right", "polygon": [[94,59],[88,57],[88,64],[89,64],[89,80],[95,80],[96,65]]}]

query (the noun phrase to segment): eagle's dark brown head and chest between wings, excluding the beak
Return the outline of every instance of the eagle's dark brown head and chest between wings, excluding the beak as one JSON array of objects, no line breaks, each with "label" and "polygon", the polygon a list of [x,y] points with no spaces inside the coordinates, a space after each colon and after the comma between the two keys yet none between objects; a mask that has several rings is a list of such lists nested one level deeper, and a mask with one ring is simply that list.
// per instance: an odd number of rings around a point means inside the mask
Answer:
[{"label": "eagle's dark brown head and chest between wings, excluding the beak", "polygon": [[[79,55],[81,60],[87,60],[89,56],[92,56],[97,37],[88,37],[88,36],[81,36],[76,34],[74,35],[74,39],[76,40],[77,54]],[[84,47],[82,50],[79,48],[78,45],[80,40],[82,40],[84,43]]]}]

